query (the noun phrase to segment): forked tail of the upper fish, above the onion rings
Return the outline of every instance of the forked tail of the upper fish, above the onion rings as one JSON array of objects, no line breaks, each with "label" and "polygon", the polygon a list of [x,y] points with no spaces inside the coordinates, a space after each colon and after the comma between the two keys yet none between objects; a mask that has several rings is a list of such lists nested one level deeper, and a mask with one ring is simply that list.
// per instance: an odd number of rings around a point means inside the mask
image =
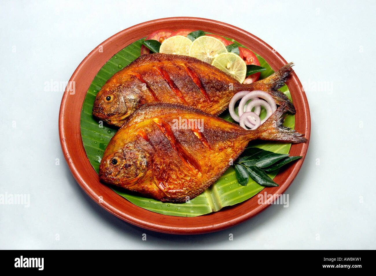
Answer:
[{"label": "forked tail of the upper fish, above the onion rings", "polygon": [[285,81],[288,79],[291,72],[294,71],[291,68],[293,66],[293,62],[290,62],[284,65],[284,67],[280,68],[278,71],[268,76],[267,78],[251,83],[250,85],[252,86],[252,90],[262,90],[269,93],[276,101],[277,105],[287,103],[287,110],[292,114],[295,114],[296,110],[293,103],[286,97],[284,93],[278,90],[284,85]]}]

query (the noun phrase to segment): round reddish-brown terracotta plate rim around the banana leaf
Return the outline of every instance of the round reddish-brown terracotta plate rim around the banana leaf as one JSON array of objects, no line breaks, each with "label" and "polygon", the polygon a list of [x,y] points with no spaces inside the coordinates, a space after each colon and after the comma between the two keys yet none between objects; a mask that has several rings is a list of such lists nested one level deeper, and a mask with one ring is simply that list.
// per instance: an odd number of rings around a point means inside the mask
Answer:
[{"label": "round reddish-brown terracotta plate rim around the banana leaf", "polygon": [[[229,24],[196,17],[162,18],[138,24],[125,29],[106,39],[98,45],[80,63],[74,71],[70,83],[74,82],[74,91],[67,86],[61,101],[59,114],[59,134],[62,151],[70,170],[81,188],[100,206],[115,216],[136,226],[149,230],[172,234],[200,234],[214,232],[241,223],[269,205],[259,205],[257,196],[221,211],[199,217],[174,217],[157,214],[133,205],[99,182],[97,173],[92,168],[83,148],[80,133],[80,114],[86,92],[100,68],[121,49],[159,29],[195,29],[216,33],[233,38],[262,56],[273,68],[278,70],[287,64],[284,58],[261,39],[245,30]],[[311,121],[308,102],[302,90],[302,84],[293,73],[287,81],[294,105],[296,107],[295,129],[309,139]],[[72,86],[71,86],[72,87]],[[293,182],[302,166],[308,143],[293,144],[290,155],[301,155],[299,161],[277,174],[274,179],[282,183],[279,187],[262,190],[268,194],[283,194]]]}]

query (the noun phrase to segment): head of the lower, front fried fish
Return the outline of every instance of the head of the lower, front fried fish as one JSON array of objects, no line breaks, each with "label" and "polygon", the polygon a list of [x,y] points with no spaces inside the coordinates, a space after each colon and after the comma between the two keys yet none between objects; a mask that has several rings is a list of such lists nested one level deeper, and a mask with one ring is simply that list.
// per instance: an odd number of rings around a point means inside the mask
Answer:
[{"label": "head of the lower, front fried fish", "polygon": [[150,155],[136,143],[130,142],[103,156],[99,165],[99,177],[106,183],[129,187],[145,176],[148,164]]}]

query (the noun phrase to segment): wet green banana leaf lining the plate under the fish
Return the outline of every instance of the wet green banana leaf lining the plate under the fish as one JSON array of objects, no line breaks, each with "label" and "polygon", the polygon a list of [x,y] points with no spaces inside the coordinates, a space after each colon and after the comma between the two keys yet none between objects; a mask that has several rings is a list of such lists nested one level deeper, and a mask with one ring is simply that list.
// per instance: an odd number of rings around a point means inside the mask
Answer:
[{"label": "wet green banana leaf lining the plate under the fish", "polygon": [[[144,38],[133,42],[109,59],[109,61],[103,65],[98,74],[94,77],[94,80],[92,81],[85,96],[80,118],[81,136],[86,155],[89,158],[90,164],[97,173],[99,171],[100,160],[106,146],[117,129],[92,117],[91,112],[94,99],[100,88],[113,74],[139,57],[143,40]],[[237,43],[236,41],[234,42]],[[244,47],[240,44],[238,45]],[[261,73],[261,78],[265,78],[272,74],[274,71],[265,62],[265,60],[257,54],[256,56],[260,61],[260,65],[267,68],[267,70]],[[287,86],[282,87],[280,90],[291,99]],[[262,118],[265,113],[265,110],[262,109],[260,117]],[[228,111],[224,112],[220,117],[227,121],[233,121]],[[293,128],[294,115],[288,115],[284,125]],[[249,147],[259,147],[275,153],[288,153],[290,151],[290,146],[291,144],[287,143],[260,143],[260,141],[251,141],[249,143]],[[273,172],[269,173],[268,175],[273,179],[276,174],[276,172]],[[265,187],[256,183],[251,177],[249,177],[247,186],[240,185],[235,176],[233,166],[230,166],[230,168],[228,168],[225,173],[202,194],[189,200],[188,202],[180,204],[162,203],[158,200],[150,199],[142,196],[141,194],[132,193],[122,188],[111,188],[117,194],[126,198],[133,204],[149,211],[179,217],[196,217],[199,215],[216,212],[225,206],[231,206],[250,199]]]}]

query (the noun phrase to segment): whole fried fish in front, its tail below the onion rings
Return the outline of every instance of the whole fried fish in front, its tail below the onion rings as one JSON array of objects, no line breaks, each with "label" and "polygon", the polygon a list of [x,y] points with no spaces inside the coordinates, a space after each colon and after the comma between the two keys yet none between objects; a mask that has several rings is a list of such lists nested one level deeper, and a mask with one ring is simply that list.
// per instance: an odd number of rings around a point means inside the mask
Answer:
[{"label": "whole fried fish in front, its tail below the onion rings", "polygon": [[250,140],[305,143],[301,133],[282,126],[287,110],[284,103],[258,129],[245,130],[187,106],[146,104],[112,137],[100,180],[162,202],[185,202],[217,180]]}]

